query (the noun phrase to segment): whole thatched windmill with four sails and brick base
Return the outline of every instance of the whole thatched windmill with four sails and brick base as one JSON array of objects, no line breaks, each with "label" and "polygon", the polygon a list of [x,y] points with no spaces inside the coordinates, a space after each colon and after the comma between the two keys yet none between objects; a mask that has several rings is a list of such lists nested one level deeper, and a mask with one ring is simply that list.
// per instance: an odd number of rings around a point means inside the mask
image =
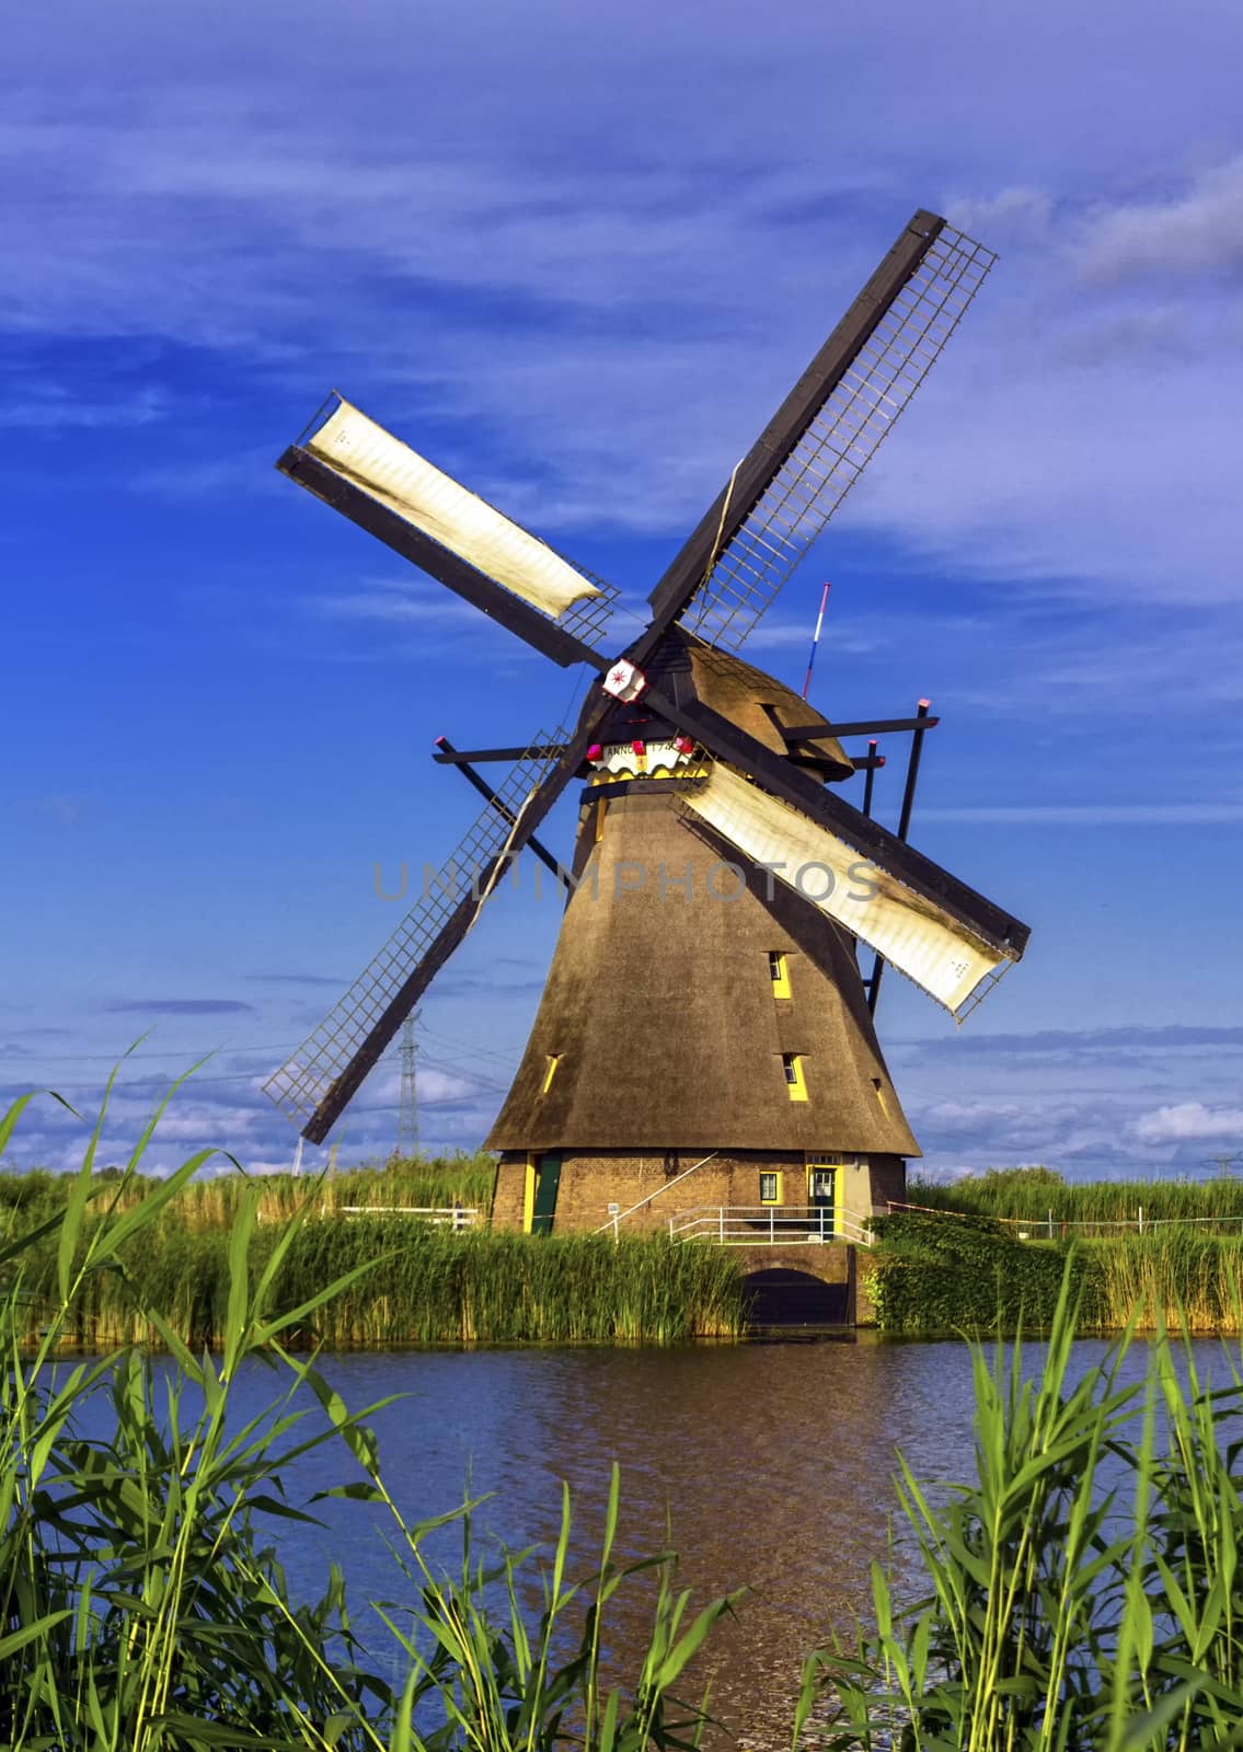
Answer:
[{"label": "whole thatched windmill with four sails and brick base", "polygon": [[[435,759],[484,809],[344,999],[265,1084],[321,1142],[529,848],[568,888],[517,1077],[487,1139],[494,1223],[536,1232],[675,1205],[901,1197],[919,1155],[877,1042],[859,946],[955,1016],[1019,960],[1027,927],[906,843],[936,720],[831,724],[738,657],[899,417],[994,256],[919,210],[649,596],[617,652],[619,592],[333,396],[279,468],[552,662],[591,671],[577,724]],[[878,757],[849,732],[908,729],[901,832],[870,815]],[[507,764],[493,787],[480,764]],[[864,808],[833,788],[868,769]],[[536,834],[586,780],[568,869]],[[677,1197],[675,1197],[677,1195]]]}]

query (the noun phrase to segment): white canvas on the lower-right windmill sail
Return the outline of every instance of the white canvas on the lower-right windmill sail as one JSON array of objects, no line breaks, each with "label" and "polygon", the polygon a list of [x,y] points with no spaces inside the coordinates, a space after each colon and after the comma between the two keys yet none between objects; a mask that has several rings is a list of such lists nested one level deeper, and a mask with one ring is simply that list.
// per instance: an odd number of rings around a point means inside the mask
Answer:
[{"label": "white canvas on the lower-right windmill sail", "polygon": [[715,764],[684,802],[777,881],[878,950],[938,1004],[957,1013],[1008,960],[934,901],[912,894],[827,829]]}]

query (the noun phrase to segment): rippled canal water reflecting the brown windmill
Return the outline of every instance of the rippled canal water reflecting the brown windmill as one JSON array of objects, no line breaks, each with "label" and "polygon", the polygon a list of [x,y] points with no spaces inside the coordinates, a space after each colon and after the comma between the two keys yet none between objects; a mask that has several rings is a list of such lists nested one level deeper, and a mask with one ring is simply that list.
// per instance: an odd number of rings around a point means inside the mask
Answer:
[{"label": "rippled canal water reflecting the brown windmill", "polygon": [[[1201,1363],[1213,1349],[1203,1347]],[[1097,1367],[1104,1351],[1082,1340],[1075,1368]],[[1031,1365],[1040,1367],[1038,1347]],[[1143,1370],[1143,1347],[1127,1367]],[[410,1521],[451,1510],[470,1487],[489,1498],[477,1515],[487,1538],[549,1547],[565,1479],[572,1573],[593,1566],[617,1461],[622,1556],[671,1545],[696,1601],[747,1589],[694,1673],[712,1684],[731,1738],[750,1747],[787,1743],[803,1656],[868,1612],[870,1565],[885,1559],[896,1526],[896,1451],[933,1484],[973,1468],[970,1356],[957,1342],[857,1333],[677,1351],[423,1351],[331,1356],[323,1368],[351,1409],[401,1395],[373,1426],[384,1477]],[[256,1370],[244,1386],[258,1409],[272,1375]],[[356,1475],[337,1449],[310,1456],[291,1500]],[[316,1512],[323,1531],[273,1526],[295,1591],[317,1594],[337,1559],[356,1621],[368,1600],[400,1598],[380,1514],[354,1501]],[[431,1549],[452,1563],[452,1538],[442,1533]],[[910,1559],[906,1540],[899,1570],[910,1573]],[[636,1670],[628,1657],[643,1647],[649,1612],[647,1594],[621,1605],[612,1656],[622,1673]],[[389,1647],[379,1622],[372,1647]],[[400,1661],[391,1671],[403,1671]]]}]

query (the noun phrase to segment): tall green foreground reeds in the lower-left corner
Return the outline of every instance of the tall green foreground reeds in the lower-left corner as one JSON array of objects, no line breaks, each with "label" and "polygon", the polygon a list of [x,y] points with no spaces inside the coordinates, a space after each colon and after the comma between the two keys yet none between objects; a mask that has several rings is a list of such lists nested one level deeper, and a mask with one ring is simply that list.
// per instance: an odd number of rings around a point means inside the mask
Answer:
[{"label": "tall green foreground reeds in the lower-left corner", "polygon": [[[0,1156],[25,1106],[0,1118]],[[572,1726],[584,1752],[698,1743],[703,1708],[671,1692],[729,1601],[691,1621],[668,1561],[654,1559],[649,1647],[626,1682],[605,1684],[614,1600],[649,1568],[614,1561],[615,1475],[601,1563],[580,1584],[566,1579],[568,1501],[550,1561],[501,1551],[480,1563],[466,1515],[461,1570],[445,1575],[428,1563],[428,1528],[398,1514],[366,1424],[387,1402],[349,1410],[314,1358],[298,1360],[286,1344],[370,1261],[317,1279],[300,1303],[277,1305],[275,1284],[303,1230],[291,1223],[273,1235],[268,1225],[256,1254],[251,1188],[228,1239],[219,1356],[182,1342],[161,1302],[147,1300],[133,1260],[154,1246],[210,1153],[163,1183],[142,1183],[151,1128],[102,1188],[91,1172],[96,1127],[54,1212],[0,1242],[0,1743],[18,1752],[554,1752]],[[44,1312],[33,1349],[25,1344],[32,1260]],[[56,1361],[82,1296],[109,1277],[128,1279],[142,1319],[172,1353],[172,1372],[156,1372],[137,1347],[72,1368]],[[249,1361],[272,1368],[272,1409],[242,1423],[235,1381]],[[93,1435],[81,1421],[88,1398]],[[323,1414],[317,1428],[305,1423],[309,1405]],[[391,1515],[398,1598],[380,1621],[405,1654],[396,1687],[368,1657],[342,1573],[326,1573],[317,1601],[295,1601],[256,1524],[259,1512],[309,1519],[310,1505],[288,1494],[289,1472],[324,1447],[338,1447],[352,1473],[326,1494]],[[531,1587],[542,1600],[535,1612]]]}]

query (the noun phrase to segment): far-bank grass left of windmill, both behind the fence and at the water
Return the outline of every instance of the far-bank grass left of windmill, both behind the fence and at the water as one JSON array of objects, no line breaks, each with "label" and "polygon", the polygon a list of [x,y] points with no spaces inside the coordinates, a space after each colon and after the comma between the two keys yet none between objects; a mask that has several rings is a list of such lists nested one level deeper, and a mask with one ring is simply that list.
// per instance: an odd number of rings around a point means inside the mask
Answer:
[{"label": "far-bank grass left of windmill, both behind the fence and at the water", "polygon": [[[230,1235],[245,1211],[256,1223],[251,1268],[279,1247],[270,1295],[296,1307],[356,1267],[370,1267],[291,1335],[356,1344],[680,1344],[733,1339],[745,1326],[742,1277],[728,1253],[673,1247],[668,1237],[531,1239],[486,1228],[454,1233],[403,1218],[407,1209],[491,1205],[491,1156],[398,1160],[310,1181],[240,1172],[191,1177],[117,1253],[119,1270],[86,1274],[65,1310],[65,1337],[82,1347],[156,1342],[158,1307],[191,1346],[216,1346],[228,1319]],[[26,1340],[46,1323],[56,1281],[54,1225],[74,1176],[0,1174],[0,1235],[47,1226],[25,1261]],[[91,1176],[77,1254],[93,1246],[95,1209],[139,1209],[161,1188],[140,1174]],[[356,1214],[358,1212],[358,1214]],[[344,1219],[347,1216],[347,1219]],[[286,1235],[288,1225],[295,1232]]]}]

